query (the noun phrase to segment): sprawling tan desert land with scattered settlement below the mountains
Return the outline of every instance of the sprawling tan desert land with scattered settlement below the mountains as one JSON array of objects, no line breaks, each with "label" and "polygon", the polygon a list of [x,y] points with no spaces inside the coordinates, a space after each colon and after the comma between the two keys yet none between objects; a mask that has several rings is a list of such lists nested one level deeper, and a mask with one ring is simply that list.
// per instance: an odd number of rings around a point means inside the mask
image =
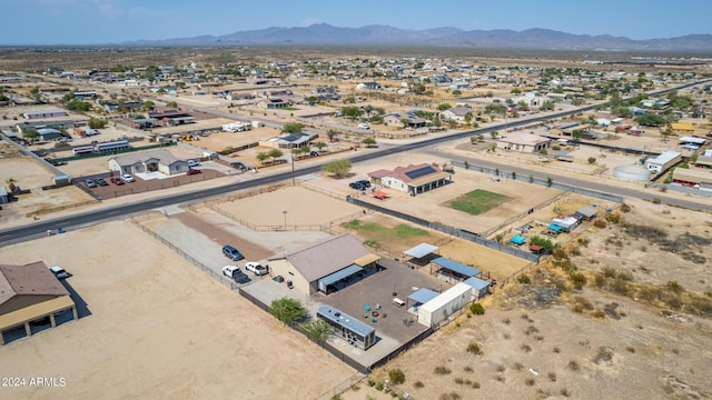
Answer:
[{"label": "sprawling tan desert land with scattered settlement below the mountains", "polygon": [[[696,56],[85,50],[0,48],[0,267],[61,266],[79,312],[3,337],[0,377],[62,384],[0,386],[0,398],[712,398],[712,187],[674,179],[712,166],[712,81]],[[65,114],[28,116],[50,111]],[[251,128],[222,129],[236,121]],[[44,124],[61,128],[44,139]],[[96,136],[75,133],[90,124]],[[502,144],[517,133],[543,148]],[[130,146],[98,148],[117,140]],[[166,143],[165,164],[135,160],[121,167],[134,181],[110,180],[117,154]],[[679,154],[656,174],[663,151]],[[447,183],[412,196],[369,176],[418,164]],[[653,173],[629,181],[620,167]],[[99,178],[110,182],[89,187]],[[551,232],[584,208],[595,216]],[[247,268],[342,234],[375,254],[373,270],[350,259],[338,267],[356,278],[308,293]],[[437,250],[405,253],[421,243]],[[407,297],[467,278],[435,257],[479,270],[484,289],[425,324]],[[275,299],[305,313],[287,322]],[[374,347],[312,336],[320,304],[374,328]]]}]

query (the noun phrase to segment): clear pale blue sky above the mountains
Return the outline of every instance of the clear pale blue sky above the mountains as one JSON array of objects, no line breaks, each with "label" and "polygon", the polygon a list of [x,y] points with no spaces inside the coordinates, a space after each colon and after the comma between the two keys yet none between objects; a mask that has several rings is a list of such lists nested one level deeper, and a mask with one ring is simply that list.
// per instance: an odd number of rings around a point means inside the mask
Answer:
[{"label": "clear pale blue sky above the mountains", "polygon": [[329,23],[547,28],[631,39],[711,33],[706,0],[0,0],[0,44],[98,44]]}]

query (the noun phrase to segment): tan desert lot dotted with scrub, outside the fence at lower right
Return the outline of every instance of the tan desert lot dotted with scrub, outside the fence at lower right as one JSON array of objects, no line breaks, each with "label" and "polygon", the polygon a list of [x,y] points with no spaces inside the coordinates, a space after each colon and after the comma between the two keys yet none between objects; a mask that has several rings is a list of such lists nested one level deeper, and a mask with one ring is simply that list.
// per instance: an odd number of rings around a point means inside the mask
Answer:
[{"label": "tan desert lot dotted with scrub, outside the fence at lower right", "polygon": [[[712,240],[709,214],[642,201],[631,206],[622,213],[626,223],[662,227],[670,239],[688,233],[702,238],[699,243]],[[400,369],[405,383],[395,390],[413,399],[710,398],[710,313],[685,313],[686,306],[680,311],[653,307],[645,299],[599,289],[593,279],[607,267],[631,272],[631,284],[665,291],[674,280],[683,288],[674,290],[710,293],[709,260],[691,262],[681,252],[631,238],[622,226],[609,223],[582,237],[587,241],[578,242],[581,256],[571,258],[589,277],[582,290],[568,286],[560,291],[554,282],[562,269],[544,263],[528,272],[531,284],[511,284],[486,300],[484,316],[448,324],[369,379],[376,383],[388,378],[388,370]],[[613,234],[622,239],[620,248],[606,242]],[[691,244],[698,253],[706,247]],[[568,252],[574,252],[571,247]],[[574,304],[584,309],[575,311]],[[482,354],[467,351],[471,343]],[[366,396],[390,398],[365,383],[343,398]]]}]

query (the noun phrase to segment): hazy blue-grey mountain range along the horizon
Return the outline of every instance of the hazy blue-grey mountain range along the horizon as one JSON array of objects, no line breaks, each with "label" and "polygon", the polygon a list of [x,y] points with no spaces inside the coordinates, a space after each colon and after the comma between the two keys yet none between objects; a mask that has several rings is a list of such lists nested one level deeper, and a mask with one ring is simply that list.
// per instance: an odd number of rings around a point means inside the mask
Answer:
[{"label": "hazy blue-grey mountain range along the horizon", "polygon": [[340,28],[328,23],[309,27],[266,28],[222,36],[199,36],[166,40],[140,40],[134,46],[417,46],[479,49],[541,49],[587,51],[695,52],[712,50],[711,34],[633,40],[609,34],[572,34],[550,29],[514,31],[463,30],[459,28],[399,29],[373,24]]}]

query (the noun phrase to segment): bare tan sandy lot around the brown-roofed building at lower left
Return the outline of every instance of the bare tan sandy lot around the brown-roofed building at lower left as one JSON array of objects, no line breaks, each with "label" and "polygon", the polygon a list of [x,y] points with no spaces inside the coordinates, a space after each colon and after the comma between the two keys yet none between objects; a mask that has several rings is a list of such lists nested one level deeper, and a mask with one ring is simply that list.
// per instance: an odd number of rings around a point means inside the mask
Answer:
[{"label": "bare tan sandy lot around the brown-roofed building at lower left", "polygon": [[[106,251],[116,238],[131,251]],[[63,266],[91,316],[1,347],[0,376],[67,382],[0,388],[1,398],[313,399],[354,373],[128,222],[8,247],[2,258]]]}]

